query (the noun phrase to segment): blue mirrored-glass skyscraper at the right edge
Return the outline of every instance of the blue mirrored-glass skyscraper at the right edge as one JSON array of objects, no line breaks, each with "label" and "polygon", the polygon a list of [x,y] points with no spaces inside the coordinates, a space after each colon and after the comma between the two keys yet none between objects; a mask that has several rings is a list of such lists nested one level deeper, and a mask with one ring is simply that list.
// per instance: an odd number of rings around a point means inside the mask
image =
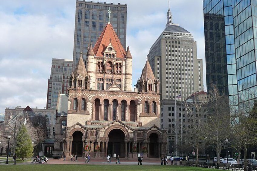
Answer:
[{"label": "blue mirrored-glass skyscraper at the right edge", "polygon": [[203,8],[207,88],[213,82],[247,113],[257,97],[256,1],[203,0]]}]

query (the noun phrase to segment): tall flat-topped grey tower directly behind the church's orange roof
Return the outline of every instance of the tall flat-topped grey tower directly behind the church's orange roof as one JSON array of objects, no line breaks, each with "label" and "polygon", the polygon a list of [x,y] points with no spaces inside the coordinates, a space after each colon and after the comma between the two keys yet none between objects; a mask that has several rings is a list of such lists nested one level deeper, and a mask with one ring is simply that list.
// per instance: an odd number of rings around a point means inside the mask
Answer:
[{"label": "tall flat-topped grey tower directly behind the church's orange roof", "polygon": [[[75,33],[73,47],[73,66],[75,67],[83,54],[85,62],[88,47],[101,35],[103,28],[110,19],[123,48],[126,47],[127,32],[127,4],[101,3],[85,0],[76,0]],[[73,68],[74,70],[75,68]]]}]

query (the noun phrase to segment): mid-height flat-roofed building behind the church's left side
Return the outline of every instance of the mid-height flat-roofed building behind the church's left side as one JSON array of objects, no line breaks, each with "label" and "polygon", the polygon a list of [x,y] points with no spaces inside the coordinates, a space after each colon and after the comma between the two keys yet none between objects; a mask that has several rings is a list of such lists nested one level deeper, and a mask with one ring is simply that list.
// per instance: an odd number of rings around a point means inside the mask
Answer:
[{"label": "mid-height flat-roofed building behind the church's left side", "polygon": [[52,59],[52,67],[47,87],[47,109],[56,109],[58,94],[68,94],[69,79],[72,74],[72,60]]}]

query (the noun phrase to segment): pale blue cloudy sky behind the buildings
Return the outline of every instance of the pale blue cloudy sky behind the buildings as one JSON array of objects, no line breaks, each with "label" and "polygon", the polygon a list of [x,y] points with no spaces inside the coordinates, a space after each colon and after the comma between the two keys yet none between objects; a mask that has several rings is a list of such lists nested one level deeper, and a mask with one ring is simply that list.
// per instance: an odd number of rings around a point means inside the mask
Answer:
[{"label": "pale blue cloudy sky behind the buildings", "polygon": [[[168,0],[101,2],[128,6],[127,46],[133,57],[135,85],[149,49],[165,29]],[[173,23],[193,34],[198,58],[204,59],[202,0],[170,0],[170,9]],[[74,24],[75,0],[1,2],[0,113],[5,107],[46,107],[52,58],[72,59]]]}]

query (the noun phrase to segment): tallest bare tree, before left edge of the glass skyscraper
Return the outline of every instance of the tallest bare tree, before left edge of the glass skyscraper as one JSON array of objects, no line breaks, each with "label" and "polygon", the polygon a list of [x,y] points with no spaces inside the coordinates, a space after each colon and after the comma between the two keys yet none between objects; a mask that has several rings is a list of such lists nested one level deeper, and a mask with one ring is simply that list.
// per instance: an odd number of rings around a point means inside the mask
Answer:
[{"label": "tallest bare tree, before left edge of the glass skyscraper", "polygon": [[229,98],[220,92],[214,84],[212,84],[211,90],[208,92],[207,109],[207,122],[202,129],[201,135],[205,143],[216,150],[217,163],[219,163],[222,148],[226,147],[231,141],[231,122]]}]

